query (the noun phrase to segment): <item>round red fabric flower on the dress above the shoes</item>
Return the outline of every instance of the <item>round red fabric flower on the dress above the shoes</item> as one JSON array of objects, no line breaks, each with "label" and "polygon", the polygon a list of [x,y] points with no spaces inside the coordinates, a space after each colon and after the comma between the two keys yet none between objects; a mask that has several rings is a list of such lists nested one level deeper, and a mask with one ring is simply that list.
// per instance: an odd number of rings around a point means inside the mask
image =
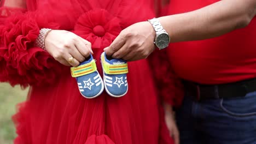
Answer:
[{"label": "round red fabric flower on the dress above the shoes", "polygon": [[81,15],[74,33],[90,41],[93,48],[105,48],[121,32],[120,20],[105,9],[94,9]]}]

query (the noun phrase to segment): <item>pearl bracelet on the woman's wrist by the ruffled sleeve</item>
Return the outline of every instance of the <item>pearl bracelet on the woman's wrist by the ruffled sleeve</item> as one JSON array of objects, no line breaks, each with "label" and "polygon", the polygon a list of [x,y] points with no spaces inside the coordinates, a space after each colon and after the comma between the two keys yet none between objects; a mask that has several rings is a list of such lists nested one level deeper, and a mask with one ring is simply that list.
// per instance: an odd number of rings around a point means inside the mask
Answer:
[{"label": "pearl bracelet on the woman's wrist by the ruffled sleeve", "polygon": [[44,41],[46,36],[48,35],[48,33],[51,31],[50,28],[42,28],[39,31],[39,35],[34,43],[35,46],[42,48],[43,50],[45,50],[45,45],[44,45]]}]

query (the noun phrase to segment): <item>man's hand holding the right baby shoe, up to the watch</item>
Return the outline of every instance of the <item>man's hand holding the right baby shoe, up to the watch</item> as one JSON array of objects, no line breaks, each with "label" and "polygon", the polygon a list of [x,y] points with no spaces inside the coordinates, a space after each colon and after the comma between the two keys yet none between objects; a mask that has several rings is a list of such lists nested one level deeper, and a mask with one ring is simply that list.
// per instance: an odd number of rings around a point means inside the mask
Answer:
[{"label": "man's hand holding the right baby shoe, up to the watch", "polygon": [[113,58],[136,61],[147,58],[154,51],[154,38],[155,31],[150,22],[138,22],[124,29],[104,51]]}]

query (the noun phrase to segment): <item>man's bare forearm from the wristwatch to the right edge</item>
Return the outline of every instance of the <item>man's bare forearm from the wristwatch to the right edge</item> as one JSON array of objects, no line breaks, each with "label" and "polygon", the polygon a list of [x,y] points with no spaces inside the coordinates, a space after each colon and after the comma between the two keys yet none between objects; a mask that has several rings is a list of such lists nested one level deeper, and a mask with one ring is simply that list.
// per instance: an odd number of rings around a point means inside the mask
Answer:
[{"label": "man's bare forearm from the wristwatch to the right edge", "polygon": [[201,40],[248,25],[256,13],[256,0],[223,0],[189,13],[159,17],[171,42]]}]

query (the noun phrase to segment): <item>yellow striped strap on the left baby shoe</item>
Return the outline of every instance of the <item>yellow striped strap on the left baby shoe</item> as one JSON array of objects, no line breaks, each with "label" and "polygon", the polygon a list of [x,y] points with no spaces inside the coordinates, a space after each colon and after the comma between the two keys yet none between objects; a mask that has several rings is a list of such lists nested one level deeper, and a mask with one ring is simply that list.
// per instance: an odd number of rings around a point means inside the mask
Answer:
[{"label": "yellow striped strap on the left baby shoe", "polygon": [[94,73],[97,70],[95,60],[93,59],[90,63],[79,65],[78,67],[71,68],[72,77],[79,77]]}]

